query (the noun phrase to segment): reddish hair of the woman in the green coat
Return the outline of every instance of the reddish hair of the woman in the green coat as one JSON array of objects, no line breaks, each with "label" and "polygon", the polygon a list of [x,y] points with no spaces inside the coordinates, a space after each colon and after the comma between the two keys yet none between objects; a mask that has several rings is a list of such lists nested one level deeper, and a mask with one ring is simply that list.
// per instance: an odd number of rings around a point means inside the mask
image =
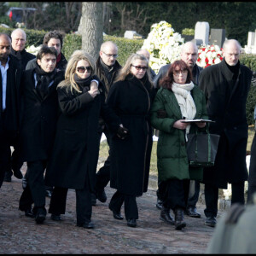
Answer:
[{"label": "reddish hair of the woman in the green coat", "polygon": [[174,61],[171,65],[171,67],[169,67],[166,77],[164,77],[163,79],[160,79],[160,86],[163,88],[166,88],[168,90],[172,90],[172,84],[174,82],[173,79],[173,73],[176,67],[179,67],[181,70],[187,70],[188,71],[188,75],[187,75],[187,80],[186,80],[186,84],[189,84],[192,81],[192,73],[189,69],[189,66],[186,64],[186,62],[180,60],[180,61]]}]

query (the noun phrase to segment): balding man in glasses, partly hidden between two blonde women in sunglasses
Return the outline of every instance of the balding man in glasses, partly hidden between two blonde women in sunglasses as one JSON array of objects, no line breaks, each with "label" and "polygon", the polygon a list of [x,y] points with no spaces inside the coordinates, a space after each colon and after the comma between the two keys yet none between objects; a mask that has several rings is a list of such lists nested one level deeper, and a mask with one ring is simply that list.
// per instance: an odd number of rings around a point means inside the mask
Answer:
[{"label": "balding man in glasses, partly hidden between two blonde women in sunglasses", "polygon": [[[116,78],[117,73],[121,66],[117,61],[118,57],[118,47],[112,41],[104,42],[101,45],[99,57],[96,61],[96,75],[99,79],[101,79],[102,84],[105,89],[105,98],[108,97],[108,91],[113,84],[114,79]],[[109,133],[106,125],[103,120],[100,119],[100,139],[102,137],[102,132],[104,132],[107,137],[108,145],[110,143]],[[109,146],[110,147],[110,146]],[[108,154],[110,155],[110,150]],[[105,161],[104,166],[96,173],[96,198],[101,201],[107,201],[107,195],[105,193],[104,188],[108,185],[110,180],[110,156],[108,155],[108,159]],[[96,200],[92,195],[92,204],[96,205]]]}]

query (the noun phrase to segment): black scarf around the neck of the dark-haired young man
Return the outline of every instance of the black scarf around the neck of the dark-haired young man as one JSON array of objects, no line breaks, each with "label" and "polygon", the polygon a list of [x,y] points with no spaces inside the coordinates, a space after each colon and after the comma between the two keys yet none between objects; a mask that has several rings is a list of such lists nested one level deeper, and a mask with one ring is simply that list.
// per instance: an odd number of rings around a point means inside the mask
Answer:
[{"label": "black scarf around the neck of the dark-haired young man", "polygon": [[53,72],[46,73],[39,65],[36,63],[35,73],[37,75],[38,84],[36,90],[38,94],[44,98],[49,92],[49,83],[55,79],[56,69]]}]

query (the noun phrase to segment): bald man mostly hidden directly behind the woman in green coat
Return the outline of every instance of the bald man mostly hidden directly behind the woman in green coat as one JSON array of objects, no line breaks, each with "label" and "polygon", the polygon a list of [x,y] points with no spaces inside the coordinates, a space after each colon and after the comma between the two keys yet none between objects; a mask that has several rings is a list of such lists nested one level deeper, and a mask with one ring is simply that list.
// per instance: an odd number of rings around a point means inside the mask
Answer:
[{"label": "bald man mostly hidden directly behind the woman in green coat", "polygon": [[[197,66],[196,61],[198,57],[198,49],[196,44],[189,41],[186,44],[183,44],[183,47],[181,49],[181,60],[186,62],[186,64],[189,66],[189,69],[192,72],[193,75],[193,83],[199,84],[199,76],[201,71],[203,70],[202,67]],[[160,68],[159,73],[154,78],[154,86],[156,89],[159,89],[159,82],[160,79],[162,79],[171,64],[167,64]],[[162,207],[162,198],[163,194],[165,193],[165,183],[159,183],[159,189],[157,190],[157,203],[156,207],[161,208]],[[185,213],[189,215],[189,217],[193,218],[201,218],[201,213],[196,211],[196,203],[199,198],[200,193],[200,182],[191,180],[189,183],[189,197],[186,205],[186,211]]]}]

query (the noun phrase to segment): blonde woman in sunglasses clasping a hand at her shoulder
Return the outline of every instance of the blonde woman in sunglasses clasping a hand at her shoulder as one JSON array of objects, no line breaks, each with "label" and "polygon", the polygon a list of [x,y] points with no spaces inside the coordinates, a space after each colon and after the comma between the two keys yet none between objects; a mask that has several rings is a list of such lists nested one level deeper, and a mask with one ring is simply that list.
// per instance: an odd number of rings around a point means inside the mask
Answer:
[{"label": "blonde woman in sunglasses clasping a hand at her shoulder", "polygon": [[55,186],[49,205],[54,220],[65,213],[67,189],[76,191],[77,225],[93,228],[91,192],[94,192],[99,154],[99,116],[114,132],[119,118],[108,108],[103,85],[94,75],[95,61],[84,50],[70,57],[65,80],[57,87],[61,115],[46,172],[46,183]]}]

